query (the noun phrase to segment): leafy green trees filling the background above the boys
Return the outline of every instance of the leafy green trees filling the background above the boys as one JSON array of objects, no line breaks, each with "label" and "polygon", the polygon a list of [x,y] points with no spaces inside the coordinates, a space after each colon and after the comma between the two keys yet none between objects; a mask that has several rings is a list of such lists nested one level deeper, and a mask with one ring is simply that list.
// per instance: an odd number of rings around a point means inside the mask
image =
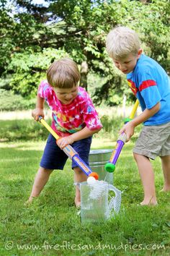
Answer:
[{"label": "leafy green trees filling the background above the boys", "polygon": [[91,92],[94,103],[120,104],[122,93],[132,99],[130,90],[126,90],[125,77],[113,67],[105,51],[106,35],[116,25],[136,30],[145,53],[166,72],[170,71],[169,1],[45,0],[45,3],[1,1],[0,88],[27,99],[35,98],[37,85],[45,78],[50,63],[70,56],[79,64],[81,86]]}]

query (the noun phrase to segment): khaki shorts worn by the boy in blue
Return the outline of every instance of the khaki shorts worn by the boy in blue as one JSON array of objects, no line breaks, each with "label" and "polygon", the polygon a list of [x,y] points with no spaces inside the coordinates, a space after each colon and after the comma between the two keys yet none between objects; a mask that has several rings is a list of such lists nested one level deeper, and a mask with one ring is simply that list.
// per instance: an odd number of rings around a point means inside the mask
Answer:
[{"label": "khaki shorts worn by the boy in blue", "polygon": [[170,122],[144,126],[135,142],[133,153],[153,160],[156,156],[170,155]]}]

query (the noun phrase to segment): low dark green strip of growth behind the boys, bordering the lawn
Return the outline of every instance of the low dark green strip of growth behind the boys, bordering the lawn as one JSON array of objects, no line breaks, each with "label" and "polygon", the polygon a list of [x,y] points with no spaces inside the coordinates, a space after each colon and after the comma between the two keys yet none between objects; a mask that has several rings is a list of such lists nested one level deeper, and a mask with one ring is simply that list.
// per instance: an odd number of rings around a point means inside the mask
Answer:
[{"label": "low dark green strip of growth behind the boys, bordering the lawn", "polygon": [[[51,119],[46,120],[51,124]],[[94,135],[101,139],[111,139],[116,141],[119,136],[119,130],[123,126],[121,117],[104,115],[101,118],[103,129]],[[140,126],[135,129],[135,136],[132,140],[138,137]],[[0,126],[0,142],[1,141],[17,141],[17,140],[46,140],[48,137],[48,130],[39,122],[33,119],[23,120],[1,120]]]}]

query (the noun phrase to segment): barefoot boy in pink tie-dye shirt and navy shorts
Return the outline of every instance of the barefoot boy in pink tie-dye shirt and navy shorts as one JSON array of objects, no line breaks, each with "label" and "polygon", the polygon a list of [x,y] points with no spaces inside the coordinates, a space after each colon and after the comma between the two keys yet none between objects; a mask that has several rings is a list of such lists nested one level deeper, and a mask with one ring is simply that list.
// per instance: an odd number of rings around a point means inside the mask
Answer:
[{"label": "barefoot boy in pink tie-dye shirt and navy shorts", "polygon": [[[61,169],[68,156],[63,148],[71,144],[81,159],[89,165],[91,137],[99,132],[102,124],[97,111],[84,88],[79,87],[80,72],[72,59],[54,61],[47,71],[47,80],[40,83],[37,92],[37,104],[32,111],[33,118],[38,121],[44,117],[44,101],[52,111],[52,128],[61,137],[56,143],[53,135],[48,136],[44,153],[37,171],[29,202],[38,197],[54,169]],[[86,181],[83,171],[72,163],[74,182]],[[75,204],[79,206],[81,196],[79,185],[76,185]]]}]

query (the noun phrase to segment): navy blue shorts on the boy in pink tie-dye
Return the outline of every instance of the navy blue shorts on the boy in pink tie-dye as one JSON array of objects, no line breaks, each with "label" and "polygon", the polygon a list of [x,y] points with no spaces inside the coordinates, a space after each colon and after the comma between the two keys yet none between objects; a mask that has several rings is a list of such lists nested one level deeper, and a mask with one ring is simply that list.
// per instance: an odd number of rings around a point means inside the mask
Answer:
[{"label": "navy blue shorts on the boy in pink tie-dye", "polygon": [[[91,146],[92,137],[73,142],[71,147],[76,150],[80,158],[89,166],[89,151]],[[63,170],[68,156],[58,147],[56,139],[53,135],[48,136],[45,150],[40,161],[40,166],[50,170],[59,169]],[[77,167],[76,163],[72,161],[72,168]]]}]

